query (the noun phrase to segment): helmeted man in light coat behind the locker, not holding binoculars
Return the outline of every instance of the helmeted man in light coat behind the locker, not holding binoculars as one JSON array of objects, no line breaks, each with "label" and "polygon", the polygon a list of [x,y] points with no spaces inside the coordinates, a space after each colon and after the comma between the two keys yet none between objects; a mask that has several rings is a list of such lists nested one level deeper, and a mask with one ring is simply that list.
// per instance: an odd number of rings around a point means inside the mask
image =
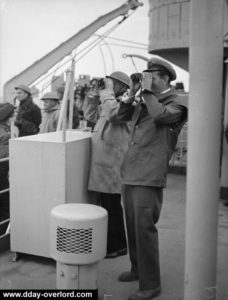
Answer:
[{"label": "helmeted man in light coat behind the locker, not holding binoculars", "polygon": [[41,100],[44,109],[40,133],[56,131],[60,114],[59,96],[55,92],[48,92],[43,95]]}]

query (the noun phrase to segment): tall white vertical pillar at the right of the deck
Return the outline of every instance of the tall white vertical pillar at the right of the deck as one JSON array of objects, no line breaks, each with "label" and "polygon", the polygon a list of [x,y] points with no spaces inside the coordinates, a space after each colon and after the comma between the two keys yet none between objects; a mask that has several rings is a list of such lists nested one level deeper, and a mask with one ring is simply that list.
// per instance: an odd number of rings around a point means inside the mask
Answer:
[{"label": "tall white vertical pillar at the right of the deck", "polygon": [[223,0],[191,0],[184,300],[219,299],[223,11]]}]

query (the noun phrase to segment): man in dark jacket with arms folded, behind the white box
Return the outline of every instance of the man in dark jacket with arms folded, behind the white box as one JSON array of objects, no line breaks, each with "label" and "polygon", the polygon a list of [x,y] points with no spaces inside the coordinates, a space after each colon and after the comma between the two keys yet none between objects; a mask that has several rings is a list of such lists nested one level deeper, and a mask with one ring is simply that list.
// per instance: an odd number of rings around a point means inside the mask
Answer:
[{"label": "man in dark jacket with arms folded, behind the white box", "polygon": [[41,123],[40,108],[33,103],[31,91],[26,85],[15,87],[16,99],[20,102],[14,125],[18,127],[19,137],[37,134]]}]

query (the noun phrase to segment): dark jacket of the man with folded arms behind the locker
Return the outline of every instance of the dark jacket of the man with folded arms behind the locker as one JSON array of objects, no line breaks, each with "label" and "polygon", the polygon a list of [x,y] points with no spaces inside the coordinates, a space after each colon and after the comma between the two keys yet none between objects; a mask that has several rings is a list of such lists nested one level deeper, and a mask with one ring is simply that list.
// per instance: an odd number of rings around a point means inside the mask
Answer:
[{"label": "dark jacket of the man with folded arms behind the locker", "polygon": [[21,101],[15,121],[19,129],[19,137],[37,134],[41,123],[40,108],[28,97]]}]

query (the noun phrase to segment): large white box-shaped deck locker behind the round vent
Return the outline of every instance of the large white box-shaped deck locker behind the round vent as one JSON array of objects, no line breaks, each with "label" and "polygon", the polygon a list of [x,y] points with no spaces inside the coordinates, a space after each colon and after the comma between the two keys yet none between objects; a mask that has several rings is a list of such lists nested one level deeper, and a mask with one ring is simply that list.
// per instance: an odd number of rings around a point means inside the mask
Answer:
[{"label": "large white box-shaped deck locker behind the round vent", "polygon": [[88,203],[91,133],[67,131],[10,140],[11,250],[49,257],[53,207]]}]

